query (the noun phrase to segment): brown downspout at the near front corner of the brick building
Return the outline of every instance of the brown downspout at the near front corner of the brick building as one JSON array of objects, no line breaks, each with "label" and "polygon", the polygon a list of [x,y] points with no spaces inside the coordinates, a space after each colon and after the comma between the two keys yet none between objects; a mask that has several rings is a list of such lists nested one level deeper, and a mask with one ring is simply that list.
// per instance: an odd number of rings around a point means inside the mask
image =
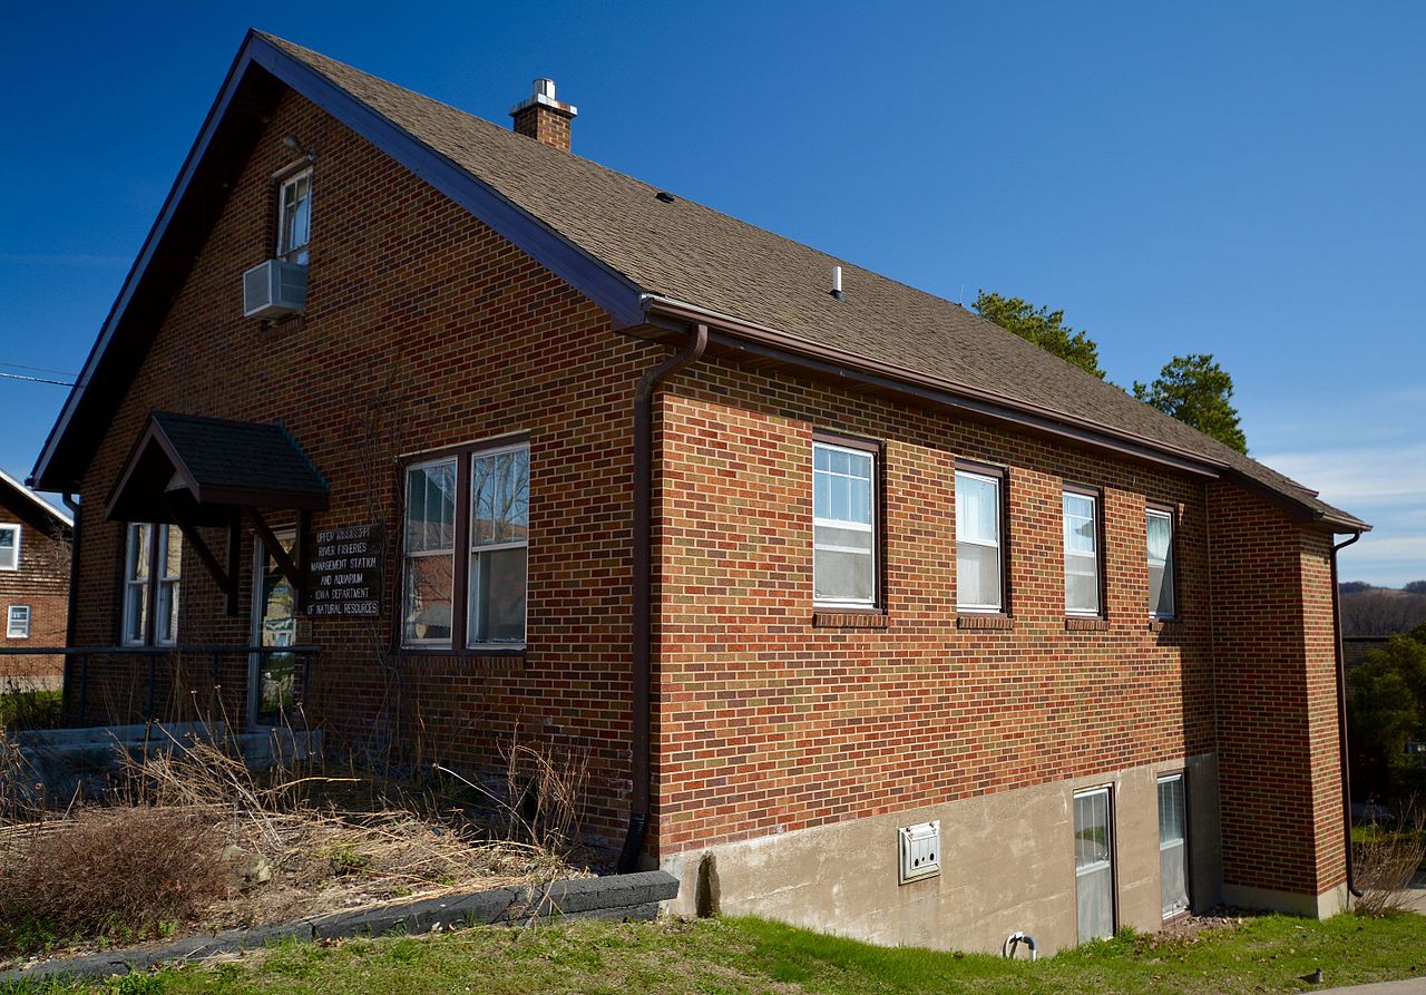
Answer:
[{"label": "brown downspout at the near front corner of the brick building", "polygon": [[633,684],[630,689],[630,781],[629,831],[619,852],[619,874],[639,870],[643,841],[649,832],[652,795],[649,743],[649,677],[652,643],[650,576],[653,557],[653,393],[659,385],[689,364],[697,362],[709,345],[709,326],[697,325],[693,341],[653,369],[645,371],[633,393]]}]

